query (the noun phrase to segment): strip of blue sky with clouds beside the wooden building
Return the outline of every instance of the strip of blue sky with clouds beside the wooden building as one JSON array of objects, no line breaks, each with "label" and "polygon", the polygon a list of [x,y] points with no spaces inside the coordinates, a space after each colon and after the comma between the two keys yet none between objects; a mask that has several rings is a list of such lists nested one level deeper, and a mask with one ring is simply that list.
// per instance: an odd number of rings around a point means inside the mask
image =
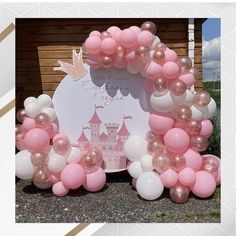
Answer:
[{"label": "strip of blue sky with clouds beside the wooden building", "polygon": [[202,27],[203,80],[220,79],[220,18],[208,18]]}]

